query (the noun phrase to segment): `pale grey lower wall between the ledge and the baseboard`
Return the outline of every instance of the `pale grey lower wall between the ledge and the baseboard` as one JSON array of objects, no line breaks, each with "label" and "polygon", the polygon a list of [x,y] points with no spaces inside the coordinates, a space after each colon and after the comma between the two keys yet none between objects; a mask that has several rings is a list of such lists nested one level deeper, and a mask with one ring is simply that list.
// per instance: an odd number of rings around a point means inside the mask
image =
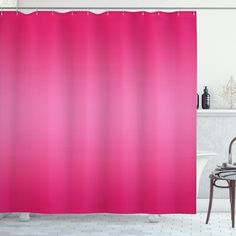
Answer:
[{"label": "pale grey lower wall between the ledge and the baseboard", "polygon": [[[230,141],[236,137],[235,116],[204,116],[197,119],[197,149],[215,152],[200,180],[198,198],[208,198],[209,174],[217,164],[228,161]],[[232,148],[233,162],[236,162],[236,143]],[[228,189],[215,189],[215,198],[228,198]]]}]

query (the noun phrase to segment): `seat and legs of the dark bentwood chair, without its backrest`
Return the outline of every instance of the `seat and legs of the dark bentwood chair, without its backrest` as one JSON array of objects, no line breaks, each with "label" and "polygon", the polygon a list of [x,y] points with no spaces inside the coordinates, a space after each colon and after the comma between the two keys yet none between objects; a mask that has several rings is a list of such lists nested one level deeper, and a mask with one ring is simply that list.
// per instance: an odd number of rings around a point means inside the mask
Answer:
[{"label": "seat and legs of the dark bentwood chair, without its backrest", "polygon": [[[235,219],[235,182],[236,182],[236,172],[235,174],[231,174],[227,177],[221,177],[222,171],[214,171],[210,176],[210,196],[209,196],[209,206],[207,212],[206,224],[209,222],[211,207],[213,201],[213,189],[217,188],[228,188],[229,189],[229,199],[230,199],[230,207],[231,207],[231,221],[232,227],[234,228],[234,219]],[[227,186],[217,185],[216,182],[218,180],[224,180],[227,182]]]}]

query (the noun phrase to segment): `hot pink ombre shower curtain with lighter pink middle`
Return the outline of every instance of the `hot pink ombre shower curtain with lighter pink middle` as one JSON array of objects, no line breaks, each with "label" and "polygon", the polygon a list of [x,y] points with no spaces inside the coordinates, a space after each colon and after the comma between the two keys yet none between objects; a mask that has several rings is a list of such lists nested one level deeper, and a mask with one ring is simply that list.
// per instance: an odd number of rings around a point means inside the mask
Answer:
[{"label": "hot pink ombre shower curtain with lighter pink middle", "polygon": [[195,213],[193,12],[0,16],[0,212]]}]

